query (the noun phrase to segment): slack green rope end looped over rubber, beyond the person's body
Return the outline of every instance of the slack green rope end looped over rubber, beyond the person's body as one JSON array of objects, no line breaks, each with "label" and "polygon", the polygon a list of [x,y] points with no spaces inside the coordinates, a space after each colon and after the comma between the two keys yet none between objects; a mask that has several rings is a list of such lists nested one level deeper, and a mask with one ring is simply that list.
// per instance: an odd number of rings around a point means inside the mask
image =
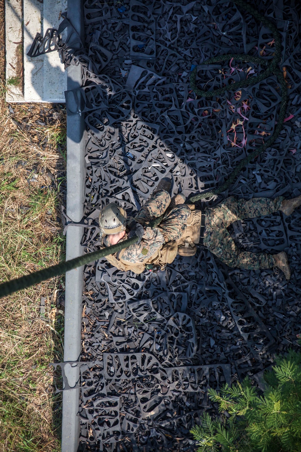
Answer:
[{"label": "slack green rope end looped over rubber, beyond the person's body", "polygon": [[264,152],[267,147],[270,147],[273,145],[274,141],[276,140],[279,133],[281,132],[284,118],[285,118],[285,113],[286,113],[286,109],[287,109],[287,86],[286,86],[286,81],[284,79],[283,71],[281,71],[279,69],[279,67],[277,66],[279,61],[281,60],[281,37],[280,37],[280,34],[279,34],[277,28],[275,27],[275,25],[272,22],[270,22],[269,19],[262,16],[258,11],[256,11],[256,9],[252,8],[252,6],[245,3],[245,1],[233,0],[233,2],[236,5],[240,6],[241,8],[245,9],[250,14],[252,14],[252,16],[256,20],[258,20],[259,22],[261,21],[262,24],[264,24],[264,26],[266,28],[269,28],[271,30],[271,32],[273,34],[273,38],[275,40],[275,55],[273,57],[273,60],[271,60],[271,61],[269,61],[269,63],[267,63],[266,61],[264,61],[261,58],[258,58],[256,56],[249,56],[249,55],[244,55],[244,54],[240,55],[240,54],[236,54],[236,53],[214,56],[213,58],[209,58],[208,60],[201,63],[201,65],[217,63],[220,61],[227,61],[231,58],[234,58],[234,59],[240,60],[240,61],[252,61],[255,63],[261,63],[264,65],[267,65],[267,68],[260,75],[249,78],[248,80],[247,79],[241,80],[241,81],[235,82],[231,85],[225,86],[223,88],[214,89],[213,91],[203,91],[202,89],[199,89],[195,83],[195,78],[196,78],[197,71],[198,71],[198,67],[195,67],[190,75],[191,88],[194,90],[194,93],[198,96],[202,96],[202,97],[220,96],[221,94],[224,94],[226,91],[234,91],[235,92],[237,89],[245,88],[248,85],[251,85],[251,84],[253,85],[255,83],[260,82],[261,80],[264,80],[270,74],[275,74],[280,83],[281,94],[282,94],[278,123],[275,127],[273,135],[271,137],[269,137],[269,139],[267,141],[265,141],[264,144],[262,144],[257,149],[255,149],[255,151],[253,151],[249,155],[247,155],[247,157],[245,157],[245,159],[241,160],[241,162],[232,171],[230,177],[227,179],[227,181],[224,184],[222,184],[218,188],[214,188],[211,191],[204,192],[204,193],[198,193],[194,196],[191,196],[189,198],[188,202],[196,202],[196,201],[199,201],[199,199],[210,198],[211,196],[218,195],[218,194],[224,192],[225,190],[227,190],[227,188],[229,188],[229,186],[232,184],[232,182],[236,179],[237,174],[248,163],[250,163],[251,160],[255,159],[255,157],[257,157],[259,154],[262,154],[262,152]]}]

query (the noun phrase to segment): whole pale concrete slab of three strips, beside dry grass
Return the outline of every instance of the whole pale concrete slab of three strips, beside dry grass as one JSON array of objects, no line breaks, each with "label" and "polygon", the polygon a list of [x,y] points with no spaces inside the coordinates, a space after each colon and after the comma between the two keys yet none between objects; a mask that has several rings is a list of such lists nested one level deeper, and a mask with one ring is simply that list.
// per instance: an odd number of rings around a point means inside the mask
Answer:
[{"label": "whole pale concrete slab of three strips, beside dry grass", "polygon": [[37,33],[58,28],[66,9],[67,0],[5,0],[8,102],[65,103],[67,73],[58,53],[30,58],[27,52]]}]

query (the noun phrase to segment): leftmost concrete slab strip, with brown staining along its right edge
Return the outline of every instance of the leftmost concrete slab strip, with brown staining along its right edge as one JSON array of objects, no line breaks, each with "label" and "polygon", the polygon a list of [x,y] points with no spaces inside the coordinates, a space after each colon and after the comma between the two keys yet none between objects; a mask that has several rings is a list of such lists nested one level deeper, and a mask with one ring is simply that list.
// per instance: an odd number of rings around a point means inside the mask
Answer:
[{"label": "leftmost concrete slab strip, with brown staining along its right edge", "polygon": [[23,102],[22,0],[5,0],[6,101]]}]

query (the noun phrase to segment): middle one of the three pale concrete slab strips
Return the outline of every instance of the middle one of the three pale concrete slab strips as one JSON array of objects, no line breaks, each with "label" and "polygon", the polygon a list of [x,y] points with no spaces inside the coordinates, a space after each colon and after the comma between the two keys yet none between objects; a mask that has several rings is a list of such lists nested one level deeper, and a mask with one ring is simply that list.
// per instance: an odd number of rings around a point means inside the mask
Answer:
[{"label": "middle one of the three pale concrete slab strips", "polygon": [[38,0],[24,1],[24,100],[42,102],[44,56],[30,58],[27,52],[37,33],[43,34],[43,4]]}]

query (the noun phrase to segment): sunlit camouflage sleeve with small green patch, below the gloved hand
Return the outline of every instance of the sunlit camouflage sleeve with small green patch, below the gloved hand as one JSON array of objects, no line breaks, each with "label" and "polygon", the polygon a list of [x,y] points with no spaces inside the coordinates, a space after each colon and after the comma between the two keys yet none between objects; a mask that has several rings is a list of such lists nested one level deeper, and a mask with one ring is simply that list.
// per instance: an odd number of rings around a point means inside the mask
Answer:
[{"label": "sunlit camouflage sleeve with small green patch, below the gloved hand", "polygon": [[157,228],[145,228],[145,234],[138,245],[131,245],[125,249],[119,259],[125,263],[138,263],[149,259],[165,243],[164,237]]}]

